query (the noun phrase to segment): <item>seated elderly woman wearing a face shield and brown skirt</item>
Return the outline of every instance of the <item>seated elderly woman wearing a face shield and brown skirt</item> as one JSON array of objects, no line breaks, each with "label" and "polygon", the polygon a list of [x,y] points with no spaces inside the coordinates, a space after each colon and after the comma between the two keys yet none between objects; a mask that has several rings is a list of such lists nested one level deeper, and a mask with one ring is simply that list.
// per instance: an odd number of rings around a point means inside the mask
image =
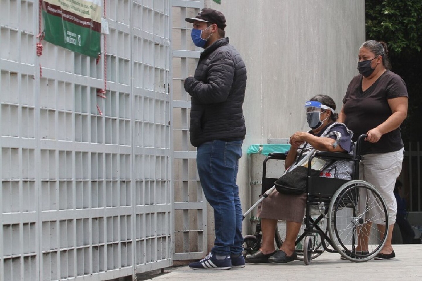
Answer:
[{"label": "seated elderly woman wearing a face shield and brown skirt", "polygon": [[[327,95],[317,95],[306,103],[309,132],[295,132],[290,137],[290,150],[284,162],[285,168],[295,165],[312,149],[318,151],[353,154],[352,131],[344,124],[335,122],[337,115],[334,100]],[[320,177],[352,178],[353,163],[338,160],[328,162]],[[307,193],[300,195],[271,193],[258,208],[261,219],[262,245],[254,254],[246,257],[247,263],[287,263],[297,259],[296,238],[306,209]],[[275,249],[274,239],[277,221],[286,221],[287,233],[280,249]]]}]

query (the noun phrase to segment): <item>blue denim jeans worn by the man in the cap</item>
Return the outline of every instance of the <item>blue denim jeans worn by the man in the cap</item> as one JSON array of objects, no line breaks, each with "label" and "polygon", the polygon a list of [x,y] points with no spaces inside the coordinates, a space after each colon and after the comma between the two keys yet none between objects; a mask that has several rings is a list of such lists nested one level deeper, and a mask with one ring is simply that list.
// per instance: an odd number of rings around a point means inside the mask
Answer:
[{"label": "blue denim jeans worn by the man in the cap", "polygon": [[243,250],[243,214],[236,184],[242,143],[213,140],[197,147],[202,190],[214,208],[215,241],[211,251],[221,255],[240,254]]}]

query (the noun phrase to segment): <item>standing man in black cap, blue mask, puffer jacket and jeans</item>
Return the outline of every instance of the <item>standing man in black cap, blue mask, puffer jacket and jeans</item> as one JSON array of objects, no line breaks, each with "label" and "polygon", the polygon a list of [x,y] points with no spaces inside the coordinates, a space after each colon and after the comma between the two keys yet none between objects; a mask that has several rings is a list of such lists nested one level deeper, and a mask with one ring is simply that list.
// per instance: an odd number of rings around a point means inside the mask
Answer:
[{"label": "standing man in black cap, blue mask, puffer jacket and jeans", "polygon": [[197,147],[197,169],[205,197],[214,208],[214,247],[192,269],[230,269],[245,266],[241,255],[242,207],[236,184],[238,161],[246,135],[243,100],[246,67],[225,38],[225,16],[202,9],[193,23],[192,40],[204,48],[194,77],[184,88],[192,97],[190,141]]}]

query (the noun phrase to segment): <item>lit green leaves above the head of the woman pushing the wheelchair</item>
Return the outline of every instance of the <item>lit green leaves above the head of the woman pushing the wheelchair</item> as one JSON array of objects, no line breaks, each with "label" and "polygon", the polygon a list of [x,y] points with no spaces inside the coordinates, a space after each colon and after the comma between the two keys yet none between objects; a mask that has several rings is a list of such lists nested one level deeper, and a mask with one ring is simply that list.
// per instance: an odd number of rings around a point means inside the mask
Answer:
[{"label": "lit green leaves above the head of the woman pushing the wheelchair", "polygon": [[365,10],[367,38],[382,38],[395,53],[421,51],[422,0],[366,0]]}]

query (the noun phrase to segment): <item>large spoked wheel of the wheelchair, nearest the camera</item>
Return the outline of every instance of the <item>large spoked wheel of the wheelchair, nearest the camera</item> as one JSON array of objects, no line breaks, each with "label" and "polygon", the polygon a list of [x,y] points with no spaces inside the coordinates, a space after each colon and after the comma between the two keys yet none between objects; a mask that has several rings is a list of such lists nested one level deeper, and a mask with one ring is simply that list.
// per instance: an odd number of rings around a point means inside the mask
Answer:
[{"label": "large spoked wheel of the wheelchair, nearest the camera", "polygon": [[[366,181],[342,185],[331,200],[328,219],[332,246],[352,262],[372,259],[387,240],[389,218],[384,198]],[[359,243],[367,251],[355,251]]]}]

